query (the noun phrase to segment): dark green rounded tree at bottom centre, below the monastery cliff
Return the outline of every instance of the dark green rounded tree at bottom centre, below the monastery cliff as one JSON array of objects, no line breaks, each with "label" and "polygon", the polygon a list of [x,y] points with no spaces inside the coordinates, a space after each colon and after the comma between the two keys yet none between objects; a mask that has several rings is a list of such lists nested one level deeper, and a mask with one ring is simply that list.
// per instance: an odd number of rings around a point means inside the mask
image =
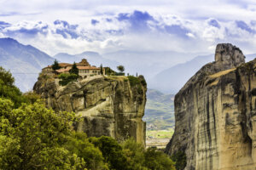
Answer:
[{"label": "dark green rounded tree at bottom centre, below the monastery cliff", "polygon": [[90,142],[95,144],[102,151],[104,161],[108,163],[109,169],[128,169],[128,162],[119,143],[110,137],[90,138]]}]

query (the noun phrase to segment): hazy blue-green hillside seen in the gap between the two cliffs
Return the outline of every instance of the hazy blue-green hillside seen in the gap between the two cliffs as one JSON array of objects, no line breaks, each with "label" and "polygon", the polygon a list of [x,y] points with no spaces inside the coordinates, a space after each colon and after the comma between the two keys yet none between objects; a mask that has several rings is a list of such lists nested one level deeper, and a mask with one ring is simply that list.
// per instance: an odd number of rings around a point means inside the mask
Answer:
[{"label": "hazy blue-green hillside seen in the gap between the two cliffs", "polygon": [[148,130],[167,130],[174,127],[174,95],[148,89],[143,120]]}]

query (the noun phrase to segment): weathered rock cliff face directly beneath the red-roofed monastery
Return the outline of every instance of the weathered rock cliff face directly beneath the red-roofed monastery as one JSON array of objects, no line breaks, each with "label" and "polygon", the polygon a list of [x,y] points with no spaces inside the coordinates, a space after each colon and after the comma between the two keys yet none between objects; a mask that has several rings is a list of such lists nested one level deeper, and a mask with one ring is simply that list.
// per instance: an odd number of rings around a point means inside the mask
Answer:
[{"label": "weathered rock cliff face directly beneath the red-roofed monastery", "polygon": [[145,144],[146,83],[142,76],[132,84],[127,77],[90,77],[60,86],[59,79],[39,77],[34,91],[55,111],[82,116],[75,128],[88,136],[111,136],[119,141],[133,137]]}]

